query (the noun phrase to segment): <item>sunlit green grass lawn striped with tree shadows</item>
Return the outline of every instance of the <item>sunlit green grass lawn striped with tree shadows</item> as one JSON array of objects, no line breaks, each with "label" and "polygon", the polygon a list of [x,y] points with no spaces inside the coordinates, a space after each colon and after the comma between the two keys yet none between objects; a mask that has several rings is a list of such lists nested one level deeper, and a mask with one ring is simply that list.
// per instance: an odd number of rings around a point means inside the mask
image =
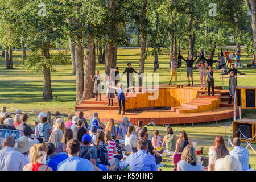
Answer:
[{"label": "sunlit green grass lawn striped with tree shadows", "polygon": [[[231,51],[230,51],[231,50]],[[229,52],[234,52],[235,49],[230,49]],[[246,65],[250,63],[251,57],[246,57],[242,50],[241,62]],[[118,48],[117,56],[117,66],[119,67],[119,72],[122,72],[127,67],[127,63],[130,62],[132,67],[139,71],[139,55],[140,49],[133,48]],[[217,55],[217,54],[216,54]],[[187,57],[187,51],[183,51],[183,56]],[[214,57],[216,59],[216,57]],[[41,101],[43,95],[43,72],[35,75],[31,72],[26,72],[18,64],[21,59],[21,52],[14,51],[14,68],[7,70],[5,68],[5,59],[0,58],[0,107],[6,106],[7,108],[15,107],[16,109],[21,109],[22,111],[32,111],[35,110],[38,114],[40,111],[60,111],[60,113],[73,114],[75,110],[75,100],[76,100],[76,76],[71,75],[72,65],[71,63],[67,65],[57,65],[57,72],[51,75],[52,81],[52,94],[55,98],[56,96],[61,97],[61,100],[52,101]],[[97,62],[97,61],[96,61]],[[104,73],[104,64],[96,64],[96,69],[100,70],[100,73]],[[238,85],[240,86],[256,86],[254,68],[243,68],[240,69],[241,72],[247,73],[246,78],[238,78]],[[149,56],[146,59],[145,73],[154,72],[154,57]],[[167,84],[170,76],[169,72],[169,54],[168,49],[163,49],[163,54],[159,55],[159,84]],[[220,76],[215,74],[215,85],[222,85],[222,80],[219,79]],[[187,83],[185,63],[181,67],[181,80],[183,83]],[[180,81],[179,71],[178,71],[178,81]],[[194,82],[196,84],[200,83],[198,71],[194,71]],[[172,82],[174,83],[174,82]],[[228,88],[228,79],[224,80],[224,89]],[[31,115],[35,118],[35,115]],[[256,119],[255,110],[246,110],[243,114],[243,118]],[[194,142],[197,142],[197,149],[204,147],[204,154],[208,156],[209,147],[214,144],[214,138],[216,135],[222,135],[225,139],[228,139],[230,133],[225,133],[225,123],[228,123],[229,129],[232,129],[232,122],[230,121],[219,121],[216,123],[200,123],[192,125],[179,125],[179,131],[185,130],[188,133],[189,138]],[[34,126],[34,122],[30,120],[31,126]],[[172,126],[174,129],[175,126]],[[154,127],[148,127],[149,133],[153,135]],[[159,130],[160,135],[163,137],[165,130]],[[229,145],[230,146],[230,145]],[[242,143],[242,147],[245,143]],[[256,144],[252,145],[254,150],[256,150]],[[229,147],[229,150],[231,148]],[[250,164],[251,167],[256,169],[256,154],[249,149],[250,152]],[[164,167],[162,170],[173,170],[174,163],[172,159],[164,158]]]}]

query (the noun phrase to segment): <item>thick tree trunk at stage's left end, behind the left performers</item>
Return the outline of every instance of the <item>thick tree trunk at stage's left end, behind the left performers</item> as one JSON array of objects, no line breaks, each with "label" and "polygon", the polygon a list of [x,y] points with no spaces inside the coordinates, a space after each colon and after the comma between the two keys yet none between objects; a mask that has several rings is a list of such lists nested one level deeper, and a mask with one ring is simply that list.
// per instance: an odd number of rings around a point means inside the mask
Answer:
[{"label": "thick tree trunk at stage's left end, behind the left performers", "polygon": [[85,74],[84,74],[84,93],[82,95],[82,100],[91,98],[93,90],[93,82],[90,78],[90,75],[95,75],[95,44],[94,36],[88,36],[88,46],[86,49],[85,55]]}]

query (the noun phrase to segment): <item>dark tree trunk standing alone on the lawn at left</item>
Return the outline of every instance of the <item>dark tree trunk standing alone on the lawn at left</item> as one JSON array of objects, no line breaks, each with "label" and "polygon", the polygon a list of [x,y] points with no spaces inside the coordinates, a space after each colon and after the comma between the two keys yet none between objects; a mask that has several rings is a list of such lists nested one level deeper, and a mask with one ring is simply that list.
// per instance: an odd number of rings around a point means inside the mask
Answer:
[{"label": "dark tree trunk standing alone on the lawn at left", "polygon": [[[50,52],[50,41],[47,40],[46,43],[44,43],[43,46],[43,53],[44,57],[46,57],[46,60],[49,60],[51,58]],[[43,101],[49,101],[52,100],[52,86],[51,86],[51,69],[46,66],[46,64],[43,65],[43,74],[44,74],[44,88],[43,88]]]}]

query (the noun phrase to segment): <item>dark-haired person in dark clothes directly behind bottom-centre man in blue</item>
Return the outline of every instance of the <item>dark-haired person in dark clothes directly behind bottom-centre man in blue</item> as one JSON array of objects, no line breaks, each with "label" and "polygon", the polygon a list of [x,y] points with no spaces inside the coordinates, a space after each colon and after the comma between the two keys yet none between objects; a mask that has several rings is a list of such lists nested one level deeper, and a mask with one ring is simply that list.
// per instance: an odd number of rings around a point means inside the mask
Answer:
[{"label": "dark-haired person in dark clothes directly behind bottom-centre man in blue", "polygon": [[[138,134],[138,137],[139,137],[139,139],[144,139],[145,132],[143,130],[140,130],[139,134]],[[138,151],[137,150],[138,140],[134,140],[134,142],[133,142],[133,152],[134,153]],[[160,164],[161,161],[162,161],[162,156],[158,153],[158,151],[156,151],[156,149],[154,148],[154,146],[152,145],[152,142],[150,140],[146,140],[146,142],[147,142],[147,145],[148,145],[147,153],[149,153],[149,154],[151,154],[155,157],[156,164]]]}]

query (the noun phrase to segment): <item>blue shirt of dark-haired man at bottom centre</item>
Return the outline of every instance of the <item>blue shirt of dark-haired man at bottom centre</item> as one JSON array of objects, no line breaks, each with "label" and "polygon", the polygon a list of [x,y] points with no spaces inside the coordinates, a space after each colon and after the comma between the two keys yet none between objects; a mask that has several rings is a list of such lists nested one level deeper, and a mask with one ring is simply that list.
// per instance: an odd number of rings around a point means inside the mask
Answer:
[{"label": "blue shirt of dark-haired man at bottom centre", "polygon": [[120,162],[121,169],[130,166],[130,171],[157,171],[155,157],[147,154],[144,150],[139,150],[130,154],[125,160]]}]

